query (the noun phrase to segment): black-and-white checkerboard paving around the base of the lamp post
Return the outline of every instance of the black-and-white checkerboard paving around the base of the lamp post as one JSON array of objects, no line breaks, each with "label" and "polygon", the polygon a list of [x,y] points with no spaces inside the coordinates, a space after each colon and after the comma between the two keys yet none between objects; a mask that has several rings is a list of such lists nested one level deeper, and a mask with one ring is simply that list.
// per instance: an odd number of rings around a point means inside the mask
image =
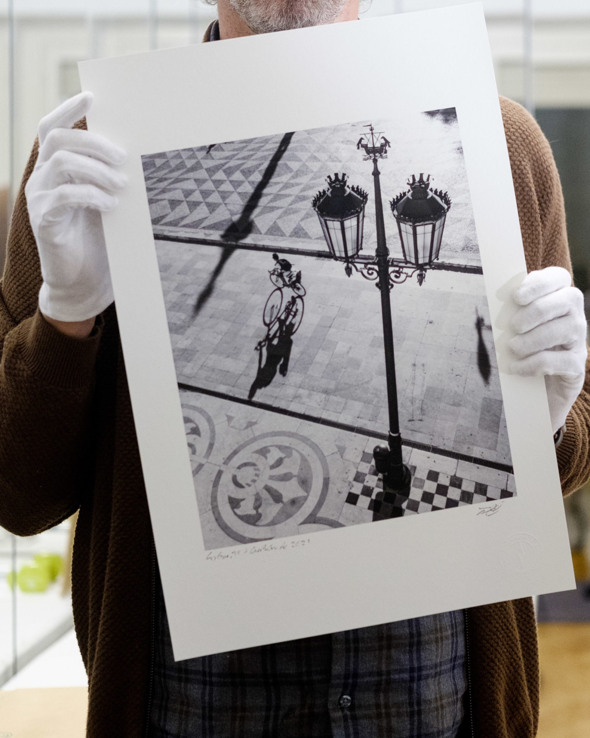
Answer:
[{"label": "black-and-white checkerboard paving around the base of the lamp post", "polygon": [[[409,466],[412,486],[409,497],[383,490],[383,479],[373,466],[372,455],[364,452],[345,506],[372,512],[372,520],[446,510],[464,505],[490,503],[514,497],[508,489],[443,474],[427,466]],[[511,475],[510,475],[511,476]]]}]

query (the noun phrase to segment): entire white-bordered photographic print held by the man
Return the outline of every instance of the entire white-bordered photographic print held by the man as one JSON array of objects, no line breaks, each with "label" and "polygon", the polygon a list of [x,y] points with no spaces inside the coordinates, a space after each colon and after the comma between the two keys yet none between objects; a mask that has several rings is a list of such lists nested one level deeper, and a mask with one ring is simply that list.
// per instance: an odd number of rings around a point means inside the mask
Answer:
[{"label": "entire white-bordered photographic print held by the man", "polygon": [[571,587],[481,5],[80,80],[175,658]]}]

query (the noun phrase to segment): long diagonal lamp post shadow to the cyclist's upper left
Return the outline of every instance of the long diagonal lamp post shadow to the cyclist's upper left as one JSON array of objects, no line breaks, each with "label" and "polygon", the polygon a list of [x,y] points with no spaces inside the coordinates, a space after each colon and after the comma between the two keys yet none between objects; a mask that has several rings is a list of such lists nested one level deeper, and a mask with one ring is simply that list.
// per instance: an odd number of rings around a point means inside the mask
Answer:
[{"label": "long diagonal lamp post shadow to the cyclist's upper left", "polygon": [[[238,241],[241,241],[243,238],[246,238],[246,236],[251,234],[252,228],[254,227],[254,222],[251,220],[251,215],[258,207],[260,199],[264,194],[264,190],[266,189],[266,187],[268,187],[268,184],[271,182],[274,173],[277,171],[277,166],[279,165],[283,154],[285,154],[285,151],[287,151],[287,149],[289,148],[289,144],[291,143],[291,139],[293,138],[293,136],[294,131],[291,131],[291,133],[285,134],[282,137],[279,148],[277,148],[277,151],[274,152],[272,159],[270,160],[270,162],[268,162],[268,165],[264,170],[262,179],[260,179],[260,182],[258,182],[256,187],[254,187],[254,191],[249,196],[248,201],[246,201],[240,217],[237,218],[237,221],[229,224],[226,230],[224,230],[221,234],[222,241],[233,241],[234,243],[237,243]],[[236,246],[228,245],[223,247],[223,252],[221,252],[221,256],[219,257],[217,266],[215,266],[215,269],[209,277],[209,281],[206,283],[206,286],[204,287],[204,289],[201,290],[201,294],[199,294],[197,298],[195,307],[192,309],[192,317],[197,317],[197,315],[201,312],[201,309],[204,307],[206,301],[209,300],[209,297],[211,297],[212,292],[215,289],[215,282],[221,274],[223,267],[226,265],[226,262],[229,260],[233,252],[235,252],[235,249]]]}]

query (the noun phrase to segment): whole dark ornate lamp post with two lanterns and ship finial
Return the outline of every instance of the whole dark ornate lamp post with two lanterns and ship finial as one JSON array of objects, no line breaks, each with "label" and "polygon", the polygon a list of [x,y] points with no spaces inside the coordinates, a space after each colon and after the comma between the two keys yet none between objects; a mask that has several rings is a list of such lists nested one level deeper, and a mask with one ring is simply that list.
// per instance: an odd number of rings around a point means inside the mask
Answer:
[{"label": "whole dark ornate lamp post with two lanterns and ship finial", "polygon": [[373,162],[377,225],[375,261],[361,261],[358,258],[362,249],[364,208],[368,199],[364,190],[349,187],[347,176],[336,173],[333,178],[327,178],[328,190],[319,192],[312,204],[322,225],[328,249],[333,258],[344,261],[347,276],[352,275],[354,268],[365,279],[376,280],[376,286],[381,292],[389,433],[387,446],[375,446],[373,458],[375,469],[383,475],[384,486],[407,494],[412,479],[402,455],[389,291],[395,283],[405,282],[416,272],[418,283],[422,286],[426,269],[438,258],[445,217],[451,201],[446,193],[443,195],[428,189],[430,175],[426,181],[422,174],[418,180],[412,176],[410,190],[401,193],[391,204],[393,215],[398,221],[403,260],[400,262],[390,259],[386,244],[378,160],[387,158],[391,144],[382,131],[375,131],[372,125],[367,125],[366,128],[369,131],[361,135],[357,149],[363,149],[364,161]]}]

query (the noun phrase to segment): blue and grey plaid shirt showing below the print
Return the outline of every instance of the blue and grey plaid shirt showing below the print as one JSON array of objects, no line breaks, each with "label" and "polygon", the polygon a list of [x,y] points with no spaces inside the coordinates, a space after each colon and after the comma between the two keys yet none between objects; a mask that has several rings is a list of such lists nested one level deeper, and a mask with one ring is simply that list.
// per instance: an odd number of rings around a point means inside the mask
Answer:
[{"label": "blue and grey plaid shirt showing below the print", "polygon": [[156,599],[150,738],[454,738],[462,610],[175,663]]}]

